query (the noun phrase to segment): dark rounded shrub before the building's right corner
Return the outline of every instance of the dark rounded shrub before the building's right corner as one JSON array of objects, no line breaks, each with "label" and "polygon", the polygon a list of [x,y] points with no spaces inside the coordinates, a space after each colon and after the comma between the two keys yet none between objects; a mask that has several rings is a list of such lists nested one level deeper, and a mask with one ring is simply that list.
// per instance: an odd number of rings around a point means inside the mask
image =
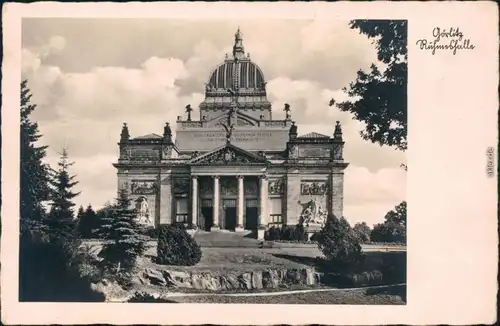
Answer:
[{"label": "dark rounded shrub before the building's right corner", "polygon": [[319,250],[338,268],[358,263],[362,257],[359,238],[343,217],[328,216],[317,238]]}]

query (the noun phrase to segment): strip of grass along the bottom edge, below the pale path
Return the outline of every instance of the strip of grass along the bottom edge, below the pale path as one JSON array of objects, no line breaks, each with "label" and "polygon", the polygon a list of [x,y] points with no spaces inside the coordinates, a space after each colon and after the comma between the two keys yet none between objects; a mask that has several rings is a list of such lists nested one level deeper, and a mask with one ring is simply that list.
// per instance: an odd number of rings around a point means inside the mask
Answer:
[{"label": "strip of grass along the bottom edge, below the pale path", "polygon": [[177,303],[404,305],[406,304],[406,286],[248,297],[224,295],[186,296],[172,297],[168,298],[168,300]]}]

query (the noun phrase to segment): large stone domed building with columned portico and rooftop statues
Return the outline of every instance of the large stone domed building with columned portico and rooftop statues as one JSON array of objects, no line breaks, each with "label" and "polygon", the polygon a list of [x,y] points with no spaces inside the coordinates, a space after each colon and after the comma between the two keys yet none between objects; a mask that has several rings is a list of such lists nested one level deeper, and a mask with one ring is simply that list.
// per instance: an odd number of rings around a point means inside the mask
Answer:
[{"label": "large stone domed building with columned portico and rooftop statues", "polygon": [[264,73],[245,54],[240,30],[232,55],[208,76],[199,117],[179,116],[176,135],[132,138],[123,125],[118,189],[126,188],[142,223],[183,223],[205,231],[254,231],[272,225],[321,226],[342,216],[344,141],[337,122],[332,137],[298,135],[285,104],[272,117]]}]

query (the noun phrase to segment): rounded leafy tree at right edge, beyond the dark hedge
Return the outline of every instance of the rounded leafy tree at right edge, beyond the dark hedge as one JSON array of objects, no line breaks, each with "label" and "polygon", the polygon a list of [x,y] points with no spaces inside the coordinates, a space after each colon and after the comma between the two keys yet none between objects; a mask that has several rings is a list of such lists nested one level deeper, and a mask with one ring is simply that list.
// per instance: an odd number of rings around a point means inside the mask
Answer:
[{"label": "rounded leafy tree at right edge, beyond the dark hedge", "polygon": [[389,211],[383,223],[376,224],[371,232],[371,241],[406,242],[406,201]]}]

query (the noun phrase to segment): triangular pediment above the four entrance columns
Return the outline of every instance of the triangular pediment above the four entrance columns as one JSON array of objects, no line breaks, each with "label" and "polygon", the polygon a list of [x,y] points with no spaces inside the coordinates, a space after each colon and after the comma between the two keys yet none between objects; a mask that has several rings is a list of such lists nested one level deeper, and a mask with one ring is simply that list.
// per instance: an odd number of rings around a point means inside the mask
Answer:
[{"label": "triangular pediment above the four entrance columns", "polygon": [[194,157],[190,164],[200,165],[245,165],[265,164],[266,158],[227,144],[201,156]]}]

